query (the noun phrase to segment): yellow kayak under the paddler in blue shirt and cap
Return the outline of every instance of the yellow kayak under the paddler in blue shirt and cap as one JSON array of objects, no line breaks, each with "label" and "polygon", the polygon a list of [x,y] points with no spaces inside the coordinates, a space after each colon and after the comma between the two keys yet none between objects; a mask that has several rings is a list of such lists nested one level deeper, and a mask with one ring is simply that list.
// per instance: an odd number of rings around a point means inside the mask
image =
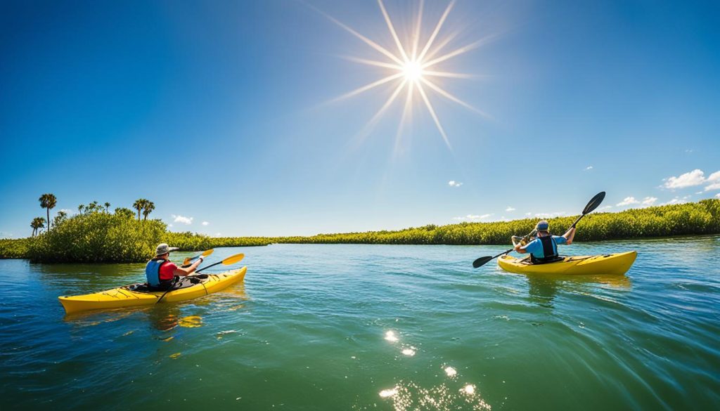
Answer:
[{"label": "yellow kayak under the paddler in blue shirt and cap", "polygon": [[567,275],[610,275],[625,274],[635,262],[637,251],[603,254],[602,256],[563,257],[561,261],[545,264],[532,264],[530,258],[501,256],[498,266],[510,273],[519,274],[567,274]]}]

